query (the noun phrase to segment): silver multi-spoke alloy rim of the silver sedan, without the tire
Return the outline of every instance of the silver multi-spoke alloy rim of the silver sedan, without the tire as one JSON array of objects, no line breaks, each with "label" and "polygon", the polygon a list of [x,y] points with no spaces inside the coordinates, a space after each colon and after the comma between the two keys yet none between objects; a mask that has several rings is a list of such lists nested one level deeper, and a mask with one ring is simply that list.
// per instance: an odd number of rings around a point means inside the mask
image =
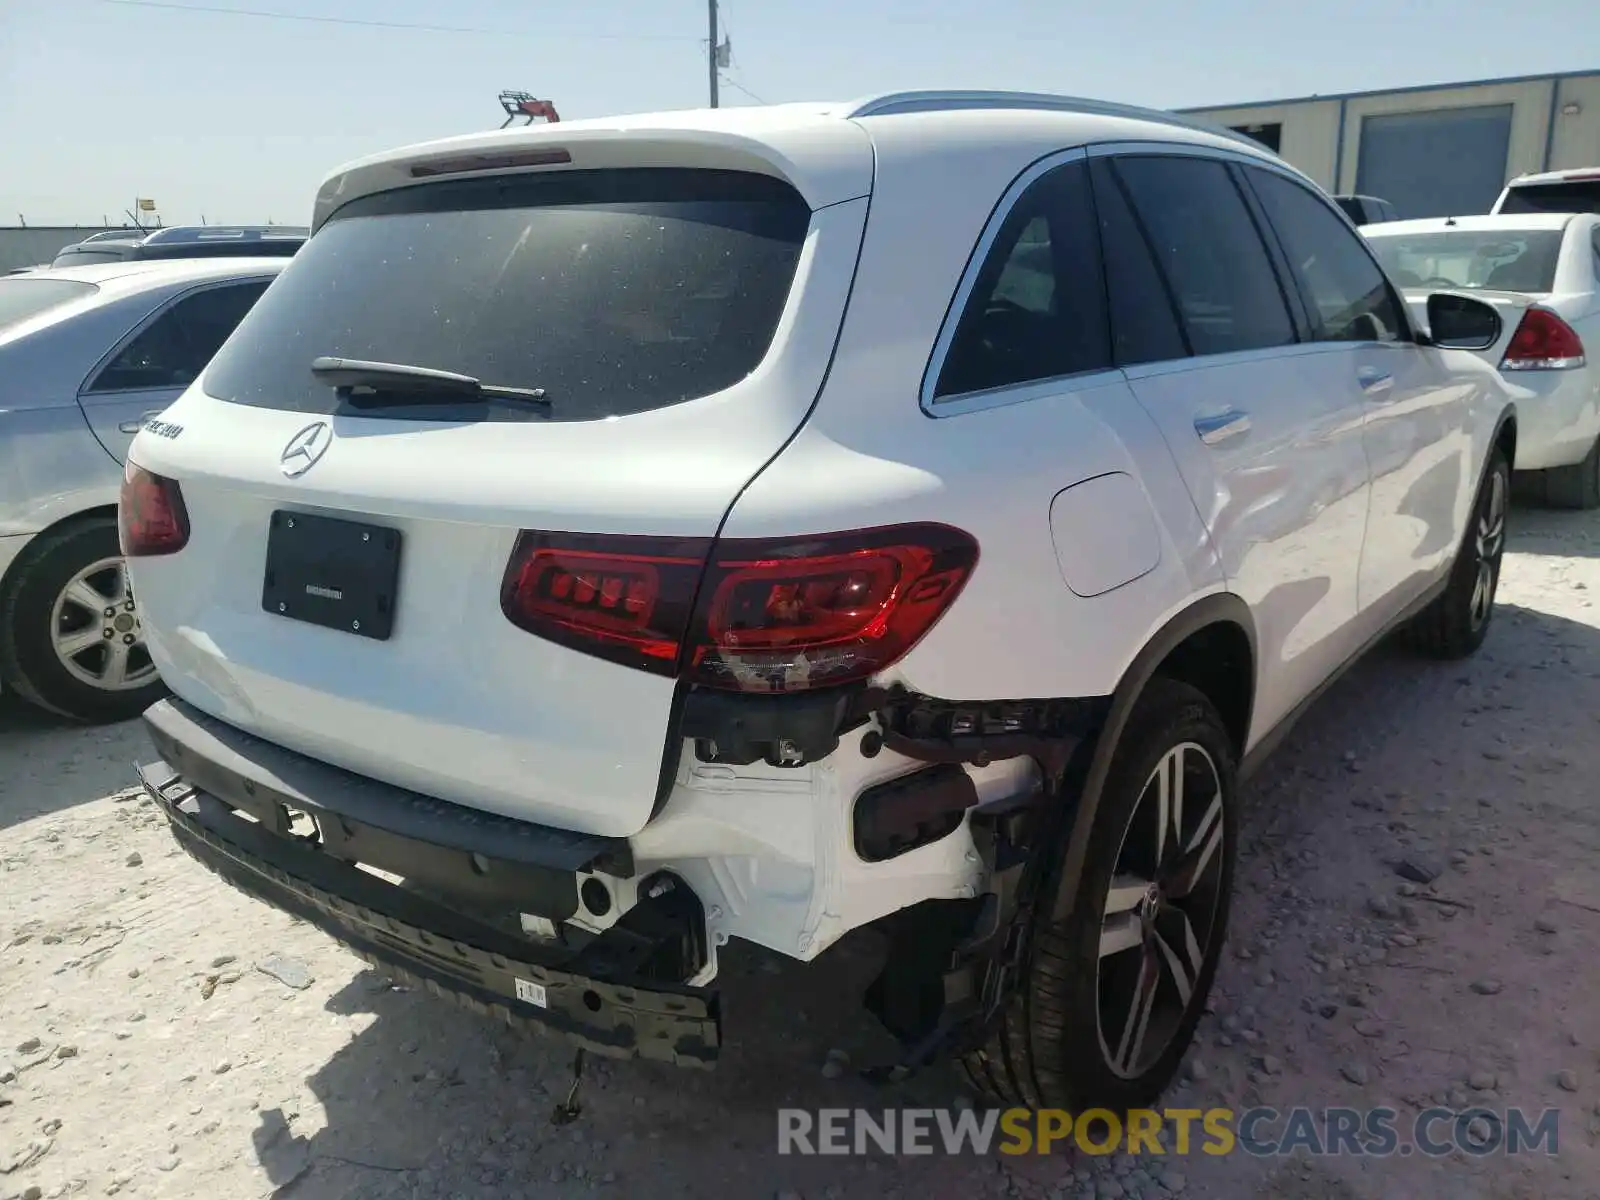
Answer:
[{"label": "silver multi-spoke alloy rim of the silver sedan, without the tire", "polygon": [[67,674],[91,688],[133,691],[155,682],[122,558],[93,562],[67,581],[50,613],[50,642]]}]

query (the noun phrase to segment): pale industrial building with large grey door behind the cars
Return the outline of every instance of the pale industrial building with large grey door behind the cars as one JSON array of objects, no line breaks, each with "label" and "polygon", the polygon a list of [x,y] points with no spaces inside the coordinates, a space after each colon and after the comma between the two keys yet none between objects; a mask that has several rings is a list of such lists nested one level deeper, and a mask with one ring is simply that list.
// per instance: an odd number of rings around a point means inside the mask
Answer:
[{"label": "pale industrial building with large grey door behind the cars", "polygon": [[1402,218],[1486,213],[1506,181],[1600,168],[1600,70],[1187,109],[1250,134],[1334,194]]}]

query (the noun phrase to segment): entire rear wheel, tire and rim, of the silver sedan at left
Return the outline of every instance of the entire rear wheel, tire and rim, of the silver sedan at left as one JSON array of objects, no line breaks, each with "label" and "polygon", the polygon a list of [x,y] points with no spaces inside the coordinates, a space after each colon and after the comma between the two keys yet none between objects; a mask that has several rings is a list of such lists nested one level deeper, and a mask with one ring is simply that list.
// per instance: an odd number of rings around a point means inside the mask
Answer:
[{"label": "entire rear wheel, tire and rim, of the silver sedan at left", "polygon": [[0,675],[35,707],[80,722],[138,717],[165,694],[112,517],[40,534],[0,590]]}]

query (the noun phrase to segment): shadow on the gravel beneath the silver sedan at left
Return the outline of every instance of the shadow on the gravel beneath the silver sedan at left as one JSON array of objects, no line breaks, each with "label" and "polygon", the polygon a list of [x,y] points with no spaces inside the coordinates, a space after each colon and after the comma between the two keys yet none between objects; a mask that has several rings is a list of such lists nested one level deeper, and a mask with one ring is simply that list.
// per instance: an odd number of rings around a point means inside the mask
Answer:
[{"label": "shadow on the gravel beneath the silver sedan at left", "polygon": [[138,720],[83,726],[0,694],[0,830],[122,790],[152,757]]}]

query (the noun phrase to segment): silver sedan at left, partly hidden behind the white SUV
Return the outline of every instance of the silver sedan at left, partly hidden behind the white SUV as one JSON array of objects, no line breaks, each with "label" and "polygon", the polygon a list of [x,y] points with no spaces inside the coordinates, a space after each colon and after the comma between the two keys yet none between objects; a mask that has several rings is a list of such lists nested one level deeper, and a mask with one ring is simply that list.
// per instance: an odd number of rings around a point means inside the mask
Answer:
[{"label": "silver sedan at left, partly hidden behind the white SUV", "polygon": [[162,693],[117,550],[134,434],[200,374],[283,259],[0,278],[0,686],[78,720]]}]

